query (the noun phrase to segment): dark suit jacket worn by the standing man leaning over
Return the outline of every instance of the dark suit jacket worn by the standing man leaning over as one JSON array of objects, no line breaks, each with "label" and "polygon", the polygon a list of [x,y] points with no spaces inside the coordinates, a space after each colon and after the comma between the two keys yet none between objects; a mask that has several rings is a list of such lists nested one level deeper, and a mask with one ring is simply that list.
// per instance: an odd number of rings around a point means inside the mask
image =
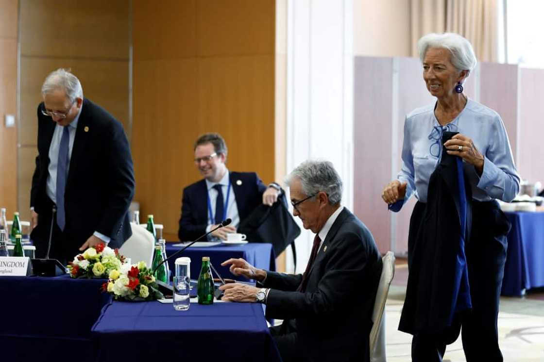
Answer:
[{"label": "dark suit jacket worn by the standing man leaning over", "polygon": [[[32,239],[47,242],[51,202],[46,194],[49,147],[55,122],[38,106],[38,157],[32,177],[30,206],[39,214]],[[120,247],[132,235],[128,207],[134,196],[134,169],[128,140],[119,121],[99,105],[83,99],[64,196],[64,234],[77,249],[95,231],[109,236],[110,247]],[[73,240],[73,242],[72,242]],[[73,248],[72,248],[73,246]]]}]

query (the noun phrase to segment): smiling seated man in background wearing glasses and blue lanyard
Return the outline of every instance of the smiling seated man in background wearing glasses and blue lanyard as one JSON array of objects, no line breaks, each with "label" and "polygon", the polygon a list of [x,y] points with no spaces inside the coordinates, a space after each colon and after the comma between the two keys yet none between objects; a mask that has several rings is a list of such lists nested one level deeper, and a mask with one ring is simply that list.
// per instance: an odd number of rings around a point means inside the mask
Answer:
[{"label": "smiling seated man in background wearing glasses and blue lanyard", "polygon": [[[229,172],[227,145],[218,133],[206,133],[195,142],[195,165],[204,179],[183,189],[181,241],[192,241],[229,218],[230,225],[215,230],[208,240],[227,240],[260,203],[272,205],[280,194],[276,183],[268,187],[255,172]],[[220,190],[221,192],[219,192]]]}]

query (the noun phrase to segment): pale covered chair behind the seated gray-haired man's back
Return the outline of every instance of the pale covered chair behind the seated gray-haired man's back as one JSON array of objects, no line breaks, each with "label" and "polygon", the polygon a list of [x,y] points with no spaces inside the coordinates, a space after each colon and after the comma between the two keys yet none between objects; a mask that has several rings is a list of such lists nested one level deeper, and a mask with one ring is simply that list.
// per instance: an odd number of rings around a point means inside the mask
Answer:
[{"label": "pale covered chair behind the seated gray-haired man's back", "polygon": [[385,302],[389,293],[391,280],[395,275],[395,255],[387,252],[382,258],[383,269],[381,271],[380,283],[376,292],[376,301],[372,311],[372,322],[370,329],[370,361],[386,362],[385,355]]}]

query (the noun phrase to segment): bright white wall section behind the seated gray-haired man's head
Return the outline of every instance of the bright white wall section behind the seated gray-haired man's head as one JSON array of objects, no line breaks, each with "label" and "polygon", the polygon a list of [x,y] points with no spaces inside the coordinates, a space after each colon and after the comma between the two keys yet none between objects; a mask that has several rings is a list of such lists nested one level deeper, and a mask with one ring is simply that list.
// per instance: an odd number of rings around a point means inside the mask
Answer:
[{"label": "bright white wall section behind the seated gray-haired man's head", "polygon": [[[353,0],[288,0],[287,19],[287,172],[308,158],[332,161],[344,181],[342,204],[351,208]],[[296,272],[306,267],[313,237],[302,229]],[[288,272],[292,260],[288,249]]]}]

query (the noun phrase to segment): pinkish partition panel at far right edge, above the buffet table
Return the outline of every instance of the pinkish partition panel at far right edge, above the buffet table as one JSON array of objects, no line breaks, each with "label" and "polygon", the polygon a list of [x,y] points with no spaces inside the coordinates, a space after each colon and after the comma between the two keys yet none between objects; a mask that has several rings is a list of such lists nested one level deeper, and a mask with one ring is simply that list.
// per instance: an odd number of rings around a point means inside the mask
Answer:
[{"label": "pinkish partition panel at far right edge, above the buffet table", "polygon": [[531,182],[544,182],[542,147],[543,69],[520,68],[520,151],[518,172]]}]

